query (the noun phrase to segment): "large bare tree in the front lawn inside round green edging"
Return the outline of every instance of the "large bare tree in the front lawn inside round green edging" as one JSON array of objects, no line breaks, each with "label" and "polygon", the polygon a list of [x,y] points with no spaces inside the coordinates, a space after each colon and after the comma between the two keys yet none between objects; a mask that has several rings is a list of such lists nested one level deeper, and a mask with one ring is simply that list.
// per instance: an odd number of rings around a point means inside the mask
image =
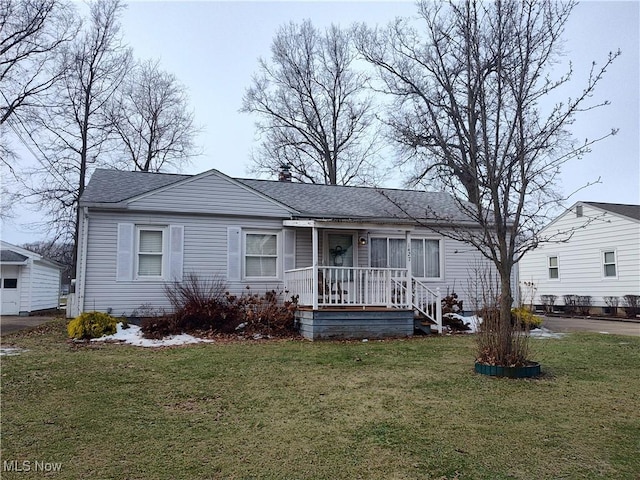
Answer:
[{"label": "large bare tree in the front lawn inside round green edging", "polygon": [[549,240],[540,230],[560,200],[556,176],[589,147],[576,146],[568,127],[579,113],[602,105],[591,97],[619,54],[610,54],[601,67],[594,64],[575,97],[543,109],[543,99],[571,77],[549,75],[563,54],[561,37],[574,6],[537,0],[421,2],[422,33],[408,20],[358,32],[360,51],[378,67],[383,90],[395,99],[389,124],[422,166],[417,178],[435,176],[479,226],[439,231],[473,245],[499,272],[504,341],[503,351],[493,352],[499,361],[512,353],[514,265]]}]

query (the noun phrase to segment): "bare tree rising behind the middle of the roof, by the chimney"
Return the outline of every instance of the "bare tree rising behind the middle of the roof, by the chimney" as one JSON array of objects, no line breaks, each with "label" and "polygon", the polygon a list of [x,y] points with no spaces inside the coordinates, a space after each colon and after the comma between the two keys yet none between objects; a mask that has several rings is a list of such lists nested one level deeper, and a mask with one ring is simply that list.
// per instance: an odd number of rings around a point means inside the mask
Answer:
[{"label": "bare tree rising behind the middle of the roof, by the chimney", "polygon": [[325,184],[363,184],[375,175],[377,143],[368,77],[357,71],[351,33],[310,21],[280,28],[271,60],[245,92],[242,112],[260,120],[255,170]]}]

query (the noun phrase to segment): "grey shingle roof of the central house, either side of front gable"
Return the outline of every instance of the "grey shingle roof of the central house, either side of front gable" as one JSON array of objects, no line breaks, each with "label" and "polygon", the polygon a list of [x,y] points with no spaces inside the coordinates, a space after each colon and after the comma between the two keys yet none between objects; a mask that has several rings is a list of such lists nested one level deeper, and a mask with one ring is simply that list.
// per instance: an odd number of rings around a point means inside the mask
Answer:
[{"label": "grey shingle roof of the central house, either side of front gable", "polygon": [[[82,195],[82,202],[118,203],[191,177],[97,169]],[[466,220],[453,198],[442,192],[235,180],[300,212],[296,216],[302,218],[407,220],[439,217]]]}]

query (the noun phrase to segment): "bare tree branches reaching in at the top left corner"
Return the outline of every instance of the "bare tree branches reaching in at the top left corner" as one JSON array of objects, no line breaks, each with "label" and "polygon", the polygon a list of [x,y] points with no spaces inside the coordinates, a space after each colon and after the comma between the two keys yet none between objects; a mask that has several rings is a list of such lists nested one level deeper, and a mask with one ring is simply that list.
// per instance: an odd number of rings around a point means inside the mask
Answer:
[{"label": "bare tree branches reaching in at the top left corner", "polygon": [[[58,81],[56,55],[77,34],[75,9],[64,0],[0,1],[0,162],[9,161],[9,119]],[[15,125],[13,125],[15,128]]]}]

